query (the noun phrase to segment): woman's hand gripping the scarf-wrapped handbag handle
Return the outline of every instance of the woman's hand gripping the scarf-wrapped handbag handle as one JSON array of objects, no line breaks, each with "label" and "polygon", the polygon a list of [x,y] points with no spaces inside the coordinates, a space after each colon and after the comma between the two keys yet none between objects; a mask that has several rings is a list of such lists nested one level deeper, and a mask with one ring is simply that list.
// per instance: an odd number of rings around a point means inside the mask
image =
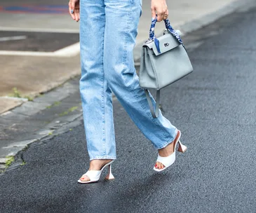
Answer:
[{"label": "woman's hand gripping the scarf-wrapped handbag handle", "polygon": [[161,22],[164,19],[168,18],[168,7],[166,4],[166,0],[151,0],[151,13],[152,18],[156,18],[157,21]]}]

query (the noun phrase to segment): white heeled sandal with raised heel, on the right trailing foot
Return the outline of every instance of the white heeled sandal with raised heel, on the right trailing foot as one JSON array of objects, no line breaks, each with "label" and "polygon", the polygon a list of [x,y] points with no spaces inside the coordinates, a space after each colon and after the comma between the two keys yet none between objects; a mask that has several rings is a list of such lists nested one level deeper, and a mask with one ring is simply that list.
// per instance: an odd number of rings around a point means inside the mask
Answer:
[{"label": "white heeled sandal with raised heel, on the right trailing foot", "polygon": [[[178,130],[180,132],[180,130]],[[181,135],[181,133],[180,133]],[[168,157],[161,157],[158,156],[156,162],[160,162],[161,164],[164,165],[163,169],[157,169],[156,167],[154,167],[154,170],[156,172],[162,172],[163,170],[166,170],[168,167],[170,167],[170,165],[173,165],[173,163],[175,163],[175,159],[176,159],[176,146],[177,144],[179,144],[179,149],[177,151],[180,151],[182,153],[184,153],[185,151],[187,151],[187,146],[184,146],[181,142],[180,142],[180,135],[177,139],[175,139],[175,144],[174,144],[174,151],[173,153],[168,156]]]}]

